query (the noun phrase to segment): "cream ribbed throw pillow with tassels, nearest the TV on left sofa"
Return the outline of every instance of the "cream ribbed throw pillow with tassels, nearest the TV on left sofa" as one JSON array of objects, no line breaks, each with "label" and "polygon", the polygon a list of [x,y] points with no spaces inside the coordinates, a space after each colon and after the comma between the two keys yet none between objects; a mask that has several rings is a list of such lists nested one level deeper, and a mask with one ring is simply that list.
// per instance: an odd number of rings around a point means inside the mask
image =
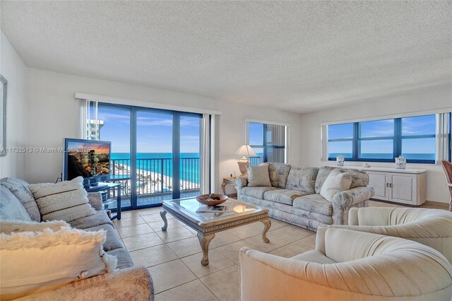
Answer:
[{"label": "cream ribbed throw pillow with tassels, nearest the TV on left sofa", "polygon": [[83,177],[57,184],[30,184],[29,189],[35,196],[42,220],[71,222],[95,214],[88,203],[88,193],[83,189]]}]

